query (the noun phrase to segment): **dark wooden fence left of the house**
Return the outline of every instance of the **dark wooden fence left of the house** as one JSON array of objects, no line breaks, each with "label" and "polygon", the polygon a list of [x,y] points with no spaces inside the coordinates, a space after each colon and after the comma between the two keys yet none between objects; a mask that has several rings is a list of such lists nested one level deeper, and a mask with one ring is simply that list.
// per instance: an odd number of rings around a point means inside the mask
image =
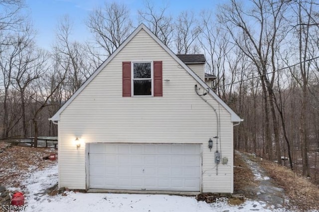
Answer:
[{"label": "dark wooden fence left of the house", "polygon": [[[1,141],[10,143],[11,145],[16,145],[16,146],[28,146],[28,147],[34,146],[34,138],[3,138],[3,139],[0,139],[0,142]],[[37,147],[57,149],[58,141],[38,138]]]}]

